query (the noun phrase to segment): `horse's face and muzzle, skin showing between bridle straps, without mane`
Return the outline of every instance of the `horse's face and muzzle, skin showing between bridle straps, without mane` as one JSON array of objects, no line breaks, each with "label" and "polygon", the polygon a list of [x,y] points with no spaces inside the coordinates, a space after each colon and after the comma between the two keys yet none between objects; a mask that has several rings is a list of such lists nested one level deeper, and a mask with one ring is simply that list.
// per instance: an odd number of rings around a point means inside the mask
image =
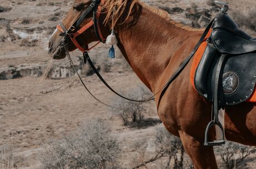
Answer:
[{"label": "horse's face and muzzle, skin showing between bridle straps, without mane", "polygon": [[[86,15],[83,15],[86,12],[86,9],[88,9],[90,6],[95,4],[95,7],[91,7],[91,10],[87,10],[88,13]],[[62,21],[62,28],[60,28],[61,24],[57,25],[56,30],[51,35],[50,41],[48,43],[48,54],[53,59],[63,59],[66,57],[66,53],[71,52],[75,49],[77,49],[77,46],[72,42],[70,35],[75,34],[78,30],[83,28],[88,23],[92,22],[93,18],[93,10],[98,12],[98,7],[101,6],[99,0],[75,0],[73,2],[73,6],[68,11],[66,17]],[[96,9],[95,9],[96,8]],[[77,25],[77,21],[81,18],[82,21],[79,25]],[[104,24],[104,19],[106,18],[105,13],[101,13],[99,15],[99,18],[97,18],[97,22],[99,22],[100,31],[102,34],[102,37],[106,37],[107,34],[110,32],[110,28],[108,28],[107,24]],[[81,20],[81,19],[80,19]],[[58,28],[59,27],[59,28]],[[63,28],[64,27],[64,28]],[[68,34],[65,35],[65,30],[68,31]],[[84,32],[79,34],[76,38],[77,43],[84,49],[88,49],[88,44],[91,42],[95,42],[98,40],[95,28],[93,25],[88,27]]]}]

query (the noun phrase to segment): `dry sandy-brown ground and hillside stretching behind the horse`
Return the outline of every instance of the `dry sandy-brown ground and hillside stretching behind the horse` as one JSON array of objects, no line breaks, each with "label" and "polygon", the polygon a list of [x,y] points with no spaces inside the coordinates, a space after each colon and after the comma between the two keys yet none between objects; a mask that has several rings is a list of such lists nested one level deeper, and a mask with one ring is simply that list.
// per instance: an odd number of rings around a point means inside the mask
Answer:
[{"label": "dry sandy-brown ground and hillside stretching behind the horse", "polygon": [[[145,2],[160,8],[180,7],[185,10],[192,3],[199,8],[209,8],[207,1],[202,0]],[[246,13],[248,8],[256,6],[254,0],[228,2],[231,11]],[[0,68],[49,63],[51,58],[47,54],[48,38],[71,5],[72,1],[66,0],[0,0],[0,6],[6,10],[0,13]],[[190,24],[184,13],[175,13],[170,17]],[[252,33],[255,35],[255,32]],[[108,47],[100,45],[91,53],[92,57],[106,55],[107,49]],[[77,55],[81,53],[72,53],[73,57]],[[143,85],[130,68],[115,66],[115,63],[120,62],[118,59],[120,58],[111,61],[114,66],[110,72],[102,73],[111,86],[117,91],[125,92]],[[68,61],[55,61],[54,65],[63,62]],[[114,95],[96,75],[83,76],[83,80],[93,94],[111,104]],[[145,107],[148,110],[145,118],[159,119],[154,101],[147,103]],[[150,139],[156,127],[136,130],[124,127],[106,106],[97,103],[83,89],[77,76],[64,79],[24,77],[0,80],[0,145],[13,145],[14,152],[23,157],[24,162],[18,168],[40,168],[40,154],[44,151],[46,142],[68,135],[97,117],[111,124],[113,134],[124,149],[141,138]],[[128,161],[124,163],[129,165]],[[250,162],[249,166],[256,168],[256,161]]]}]

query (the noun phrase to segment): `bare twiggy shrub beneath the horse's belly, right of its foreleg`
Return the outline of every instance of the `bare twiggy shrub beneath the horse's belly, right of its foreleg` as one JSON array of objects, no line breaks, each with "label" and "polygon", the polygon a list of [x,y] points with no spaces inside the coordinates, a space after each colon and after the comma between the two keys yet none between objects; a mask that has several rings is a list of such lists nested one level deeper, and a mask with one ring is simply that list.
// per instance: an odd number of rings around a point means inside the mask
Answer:
[{"label": "bare twiggy shrub beneath the horse's belly, right of its foreleg", "polygon": [[242,165],[245,158],[252,153],[256,152],[256,148],[240,145],[234,142],[228,141],[224,146],[216,147],[215,153],[221,157],[223,164],[221,167],[227,169],[233,169],[236,165],[237,167]]}]

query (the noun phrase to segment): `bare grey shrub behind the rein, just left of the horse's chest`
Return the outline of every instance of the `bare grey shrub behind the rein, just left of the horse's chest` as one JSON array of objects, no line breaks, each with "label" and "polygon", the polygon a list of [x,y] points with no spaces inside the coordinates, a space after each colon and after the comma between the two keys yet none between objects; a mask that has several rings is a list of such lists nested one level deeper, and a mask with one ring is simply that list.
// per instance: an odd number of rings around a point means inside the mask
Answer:
[{"label": "bare grey shrub behind the rein, just left of the horse's chest", "polygon": [[[132,98],[135,100],[142,100],[149,98],[150,92],[144,86],[138,86],[127,93],[124,94],[127,98]],[[129,101],[116,96],[112,99],[112,104],[115,107],[120,107],[121,109],[111,109],[115,115],[119,116],[123,124],[132,125],[132,123],[140,122],[144,118],[146,109],[144,105],[141,105],[134,101]]]}]

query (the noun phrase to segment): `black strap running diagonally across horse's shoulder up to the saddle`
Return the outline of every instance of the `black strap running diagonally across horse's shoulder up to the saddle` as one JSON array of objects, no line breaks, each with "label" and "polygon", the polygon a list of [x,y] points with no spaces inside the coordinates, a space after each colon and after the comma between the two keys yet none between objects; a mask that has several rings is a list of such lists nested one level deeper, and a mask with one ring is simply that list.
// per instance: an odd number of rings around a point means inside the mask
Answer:
[{"label": "black strap running diagonally across horse's shoulder up to the saddle", "polygon": [[192,52],[189,54],[189,56],[180,64],[179,68],[175,71],[175,73],[173,74],[173,76],[171,76],[171,78],[169,79],[169,81],[166,83],[166,85],[164,86],[164,89],[162,90],[159,100],[158,100],[158,107],[160,105],[161,99],[163,98],[166,90],[168,89],[168,87],[170,86],[171,83],[173,83],[173,81],[179,76],[179,74],[183,71],[183,69],[186,67],[186,65],[189,63],[190,59],[193,57],[193,55],[196,53],[196,51],[198,50],[198,48],[200,47],[201,43],[204,41],[206,35],[208,34],[211,25],[213,25],[214,19],[211,20],[211,22],[208,24],[208,26],[205,28],[203,35],[201,36],[199,42],[196,44],[195,48],[192,50]]}]

